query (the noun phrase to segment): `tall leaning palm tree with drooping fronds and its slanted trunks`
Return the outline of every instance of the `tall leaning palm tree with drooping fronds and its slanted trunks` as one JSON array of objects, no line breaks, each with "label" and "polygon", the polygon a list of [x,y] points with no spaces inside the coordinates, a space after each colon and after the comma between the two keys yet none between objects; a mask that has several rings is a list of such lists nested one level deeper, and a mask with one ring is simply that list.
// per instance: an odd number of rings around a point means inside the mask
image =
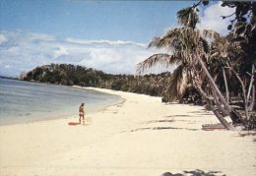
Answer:
[{"label": "tall leaning palm tree with drooping fronds and its slanted trunks", "polygon": [[[220,34],[213,30],[196,29],[196,24],[199,22],[199,19],[196,8],[194,7],[179,11],[177,13],[177,17],[178,22],[182,27],[169,29],[161,37],[155,37],[149,45],[149,47],[154,46],[160,49],[165,48],[167,53],[161,53],[149,57],[138,64],[137,70],[139,72],[143,72],[145,69],[156,64],[163,66],[170,66],[173,64],[178,65],[174,74],[172,74],[172,80],[175,80],[176,85],[180,85],[179,83],[189,80],[192,81],[192,85],[197,88],[197,90],[211,105],[214,100],[216,104],[220,104],[220,106],[218,106],[219,108],[212,105],[212,110],[226,129],[232,129],[232,125],[225,121],[220,112],[222,112],[222,110],[226,111],[233,121],[237,120],[236,113],[226,102],[206,65],[206,63],[211,59],[211,43],[209,40],[214,40],[220,37]],[[212,89],[214,97],[209,97],[202,88],[202,78],[204,76],[208,79],[208,83]],[[184,78],[188,79],[184,81]],[[169,88],[171,87],[172,86],[169,86]],[[176,88],[178,89],[178,87]],[[182,90],[184,87],[180,87],[179,89]],[[182,91],[179,92],[181,93]],[[224,105],[223,109],[220,108],[222,107],[221,104]]]}]

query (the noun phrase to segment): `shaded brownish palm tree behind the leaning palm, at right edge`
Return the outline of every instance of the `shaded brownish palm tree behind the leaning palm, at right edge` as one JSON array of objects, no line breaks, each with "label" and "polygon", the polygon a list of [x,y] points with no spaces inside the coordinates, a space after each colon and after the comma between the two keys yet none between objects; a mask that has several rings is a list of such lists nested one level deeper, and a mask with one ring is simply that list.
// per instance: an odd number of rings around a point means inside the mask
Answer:
[{"label": "shaded brownish palm tree behind the leaning palm, at right edge", "polygon": [[[243,96],[245,120],[248,120],[248,112],[253,110],[255,102],[255,86],[253,85],[255,75],[255,64],[253,63],[255,61],[253,59],[255,60],[255,58],[252,56],[253,53],[247,51],[248,48],[253,47],[249,44],[250,37],[246,35],[239,36],[239,33],[236,32],[237,29],[234,29],[234,34],[218,38],[212,45],[212,56],[222,58],[225,68],[232,73],[239,83]],[[247,91],[246,88],[248,88]],[[251,101],[250,104],[249,100]]]}]

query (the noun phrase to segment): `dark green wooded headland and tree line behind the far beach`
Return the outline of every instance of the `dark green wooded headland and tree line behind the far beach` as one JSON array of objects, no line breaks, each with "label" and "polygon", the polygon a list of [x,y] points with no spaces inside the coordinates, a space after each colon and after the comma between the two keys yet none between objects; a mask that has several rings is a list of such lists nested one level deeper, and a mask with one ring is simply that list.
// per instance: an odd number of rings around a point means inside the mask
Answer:
[{"label": "dark green wooded headland and tree line behind the far beach", "polygon": [[162,96],[169,73],[160,75],[111,75],[82,66],[51,64],[36,67],[23,76],[25,81],[35,81],[66,86],[109,88],[122,91]]}]

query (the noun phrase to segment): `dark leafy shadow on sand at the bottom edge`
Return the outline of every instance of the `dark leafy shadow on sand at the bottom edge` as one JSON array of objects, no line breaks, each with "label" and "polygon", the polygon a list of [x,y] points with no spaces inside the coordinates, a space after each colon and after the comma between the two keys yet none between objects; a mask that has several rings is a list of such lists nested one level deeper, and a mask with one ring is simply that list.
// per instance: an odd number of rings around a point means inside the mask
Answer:
[{"label": "dark leafy shadow on sand at the bottom edge", "polygon": [[221,171],[209,171],[209,172],[205,172],[203,170],[200,169],[196,169],[196,170],[191,170],[191,171],[183,171],[183,173],[175,173],[172,174],[170,172],[165,172],[163,174],[161,174],[160,176],[225,176],[225,174],[223,174]]}]

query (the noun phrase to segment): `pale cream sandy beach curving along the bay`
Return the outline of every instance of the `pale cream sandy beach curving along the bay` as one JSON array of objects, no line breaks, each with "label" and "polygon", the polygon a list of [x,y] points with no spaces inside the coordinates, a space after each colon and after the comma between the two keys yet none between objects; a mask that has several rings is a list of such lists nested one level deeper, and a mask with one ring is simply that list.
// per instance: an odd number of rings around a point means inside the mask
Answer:
[{"label": "pale cream sandy beach curving along the bay", "polygon": [[0,175],[256,175],[256,137],[201,130],[218,122],[203,107],[94,89],[125,101],[88,114],[91,125],[68,126],[78,121],[69,118],[0,127]]}]

